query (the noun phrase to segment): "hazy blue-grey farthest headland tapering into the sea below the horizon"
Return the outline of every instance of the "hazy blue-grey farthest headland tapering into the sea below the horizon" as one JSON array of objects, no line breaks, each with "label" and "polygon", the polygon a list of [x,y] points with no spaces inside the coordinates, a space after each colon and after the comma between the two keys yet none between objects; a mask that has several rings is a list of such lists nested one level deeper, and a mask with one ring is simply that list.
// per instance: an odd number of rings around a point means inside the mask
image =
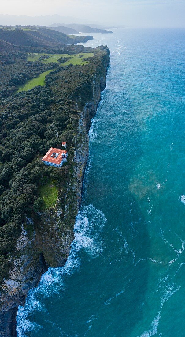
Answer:
[{"label": "hazy blue-grey farthest headland tapering into the sea below the horizon", "polygon": [[[101,34],[112,34],[112,30],[105,30],[96,27],[90,27],[87,25],[82,24],[52,24],[50,27],[54,30],[58,30],[59,32],[66,33],[66,34],[78,34],[80,33],[101,33]],[[73,32],[70,33],[71,29]]]}]

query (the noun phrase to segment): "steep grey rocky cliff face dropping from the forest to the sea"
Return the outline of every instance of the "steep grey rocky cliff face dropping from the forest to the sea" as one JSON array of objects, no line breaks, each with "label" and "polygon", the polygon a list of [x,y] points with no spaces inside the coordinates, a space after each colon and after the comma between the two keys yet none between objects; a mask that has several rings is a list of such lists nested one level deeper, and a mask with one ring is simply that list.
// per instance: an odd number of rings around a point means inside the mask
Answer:
[{"label": "steep grey rocky cliff face dropping from the forest to the sea", "polygon": [[12,270],[0,293],[0,337],[16,336],[16,314],[25,304],[29,289],[36,287],[48,267],[64,266],[74,239],[75,217],[81,201],[85,165],[88,158],[88,135],[91,118],[95,116],[106,86],[109,50],[94,75],[91,99],[84,102],[83,90],[73,99],[80,110],[78,136],[74,150],[73,172],[65,193],[59,191],[57,204],[39,215],[39,220],[27,218],[17,240]]}]

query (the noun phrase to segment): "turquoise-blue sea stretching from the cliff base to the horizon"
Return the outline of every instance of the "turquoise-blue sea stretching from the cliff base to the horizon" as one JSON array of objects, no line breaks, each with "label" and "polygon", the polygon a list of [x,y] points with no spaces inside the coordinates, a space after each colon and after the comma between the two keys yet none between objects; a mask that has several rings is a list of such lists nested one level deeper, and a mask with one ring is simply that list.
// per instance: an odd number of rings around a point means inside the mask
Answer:
[{"label": "turquoise-blue sea stretching from the cliff base to the horizon", "polygon": [[185,336],[185,30],[115,29],[76,238],[18,336]]}]

